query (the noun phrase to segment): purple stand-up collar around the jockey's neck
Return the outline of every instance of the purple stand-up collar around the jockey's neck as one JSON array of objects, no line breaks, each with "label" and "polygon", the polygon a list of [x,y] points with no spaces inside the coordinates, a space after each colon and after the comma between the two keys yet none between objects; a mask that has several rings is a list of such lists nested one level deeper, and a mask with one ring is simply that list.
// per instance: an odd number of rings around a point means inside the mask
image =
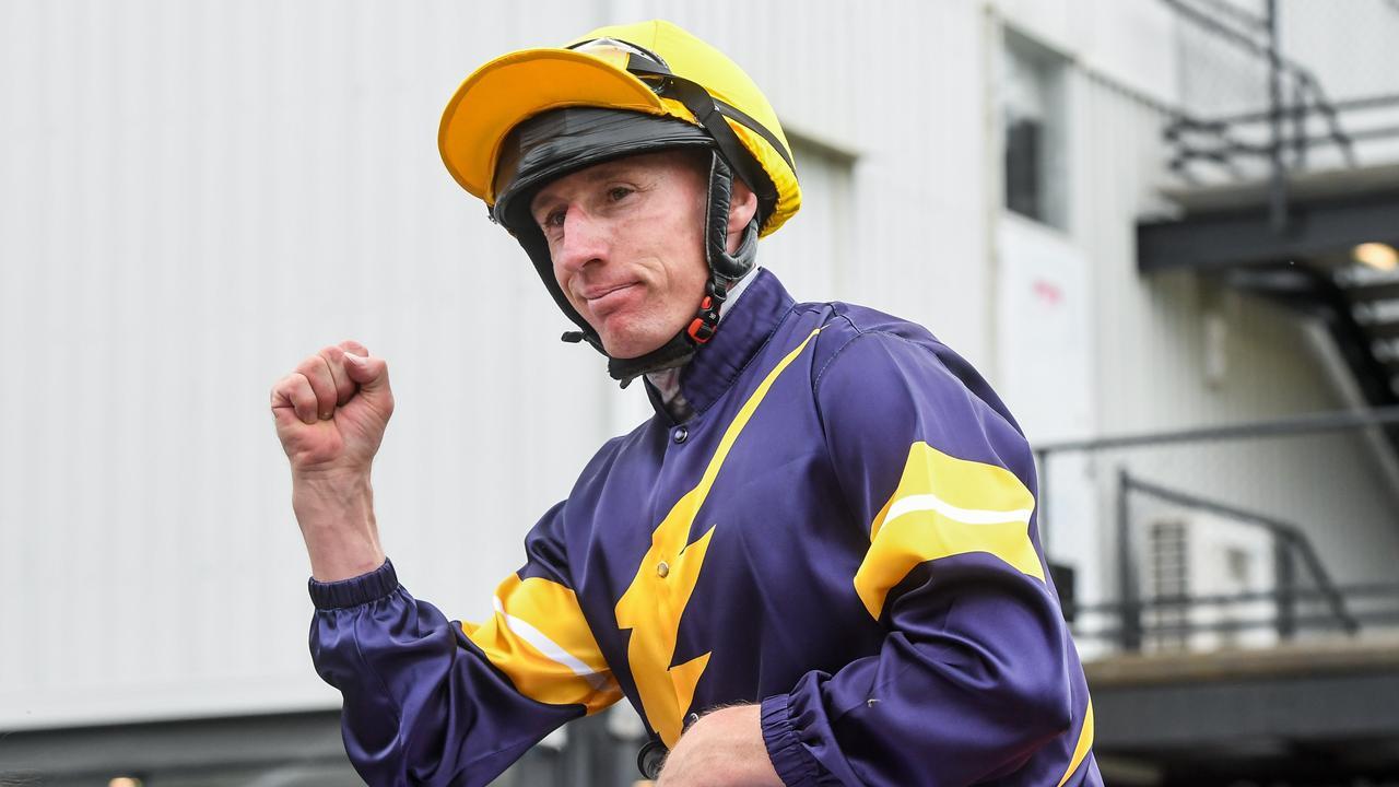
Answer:
[{"label": "purple stand-up collar around the jockey's neck", "polygon": [[[743,300],[730,304],[722,314],[723,325],[713,339],[702,344],[694,358],[680,370],[680,395],[702,413],[733,384],[748,361],[758,353],[778,323],[796,302],[778,277],[760,269],[743,290]],[[659,405],[655,386],[648,385],[652,403]],[[665,413],[665,406],[658,406]]]}]

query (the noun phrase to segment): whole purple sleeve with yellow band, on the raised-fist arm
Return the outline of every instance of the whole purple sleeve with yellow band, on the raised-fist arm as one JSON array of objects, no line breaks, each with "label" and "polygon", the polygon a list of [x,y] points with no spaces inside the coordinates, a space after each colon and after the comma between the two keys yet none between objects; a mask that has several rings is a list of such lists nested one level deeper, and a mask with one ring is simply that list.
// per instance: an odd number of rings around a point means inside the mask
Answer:
[{"label": "whole purple sleeve with yellow band, on the raised-fist arm", "polygon": [[[388,560],[348,580],[311,580],[312,661],[344,697],[346,752],[365,781],[485,784],[561,724],[621,696],[571,590],[564,507],[526,536],[525,566],[497,587],[495,613],[480,625],[413,598]],[[555,661],[541,646],[567,655]]]}]

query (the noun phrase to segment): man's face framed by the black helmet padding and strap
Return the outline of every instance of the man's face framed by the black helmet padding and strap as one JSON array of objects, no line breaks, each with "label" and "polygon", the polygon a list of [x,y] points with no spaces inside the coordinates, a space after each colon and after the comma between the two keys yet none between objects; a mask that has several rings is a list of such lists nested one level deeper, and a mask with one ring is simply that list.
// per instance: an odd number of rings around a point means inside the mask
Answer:
[{"label": "man's face framed by the black helmet padding and strap", "polygon": [[558,286],[607,354],[649,353],[694,319],[706,186],[694,153],[663,151],[565,175],[530,202]]}]

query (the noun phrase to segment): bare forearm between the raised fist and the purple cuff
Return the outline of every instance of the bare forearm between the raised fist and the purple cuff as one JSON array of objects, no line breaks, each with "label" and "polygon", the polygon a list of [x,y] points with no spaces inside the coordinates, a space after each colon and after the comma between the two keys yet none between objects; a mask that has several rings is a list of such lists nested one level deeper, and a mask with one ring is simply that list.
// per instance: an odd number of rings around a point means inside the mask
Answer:
[{"label": "bare forearm between the raised fist and the purple cuff", "polygon": [[291,507],[311,556],[311,576],[347,580],[383,564],[368,476],[295,478]]}]

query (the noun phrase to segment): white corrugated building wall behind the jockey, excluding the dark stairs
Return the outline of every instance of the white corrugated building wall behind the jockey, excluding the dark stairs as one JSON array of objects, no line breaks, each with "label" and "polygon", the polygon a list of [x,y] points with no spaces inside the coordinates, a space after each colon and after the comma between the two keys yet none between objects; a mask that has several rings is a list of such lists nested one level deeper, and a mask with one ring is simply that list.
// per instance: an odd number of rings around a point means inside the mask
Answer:
[{"label": "white corrugated building wall behind the jockey, excluding the dark stairs", "polygon": [[[1283,50],[1332,98],[1399,92],[1391,3],[1280,7]],[[302,356],[354,337],[389,358],[378,521],[404,583],[453,618],[490,613],[534,518],[646,417],[557,340],[567,321],[435,144],[476,64],[602,24],[669,18],[743,64],[806,190],[760,262],[799,300],[923,322],[1037,444],[1372,405],[1314,321],[1139,272],[1137,223],[1206,199],[1168,168],[1170,120],[1266,99],[1256,57],[1209,60],[1228,48],[1200,43],[1192,8],[1242,24],[1263,4],[0,4],[0,780],[347,773],[266,409]],[[1344,165],[1328,155],[1309,167]],[[1128,462],[1295,522],[1344,581],[1388,581],[1393,451],[1350,433],[1065,455],[1049,552],[1080,601],[1116,598]]]}]

